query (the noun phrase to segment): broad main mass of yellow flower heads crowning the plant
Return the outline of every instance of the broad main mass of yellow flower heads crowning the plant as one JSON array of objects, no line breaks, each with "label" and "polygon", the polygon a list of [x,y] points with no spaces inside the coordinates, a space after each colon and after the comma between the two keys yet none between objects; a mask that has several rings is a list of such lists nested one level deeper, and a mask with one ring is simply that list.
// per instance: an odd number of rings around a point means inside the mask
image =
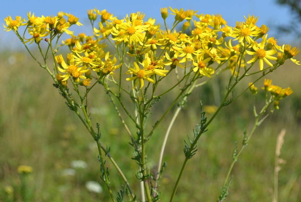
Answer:
[{"label": "broad main mass of yellow flower heads crowning the plant", "polygon": [[[72,54],[68,54],[67,62],[61,55],[55,57],[59,65],[58,70],[65,73],[61,75],[57,72],[57,81],[63,86],[67,84],[66,81],[70,76],[77,84],[89,85],[91,74],[89,77],[83,75],[88,72],[88,68],[96,72],[97,78],[101,75],[112,75],[113,71],[122,65],[125,52],[135,60],[127,65],[126,72],[131,75],[127,81],[137,81],[134,88],[138,82],[142,88],[144,80],[154,83],[156,75],[164,77],[177,66],[185,69],[185,72],[188,66],[191,66],[197,77],[211,77],[215,73],[213,63],[227,63],[227,69],[237,75],[236,69],[239,64],[237,59],[245,53],[252,56],[247,63],[253,65],[258,60],[261,71],[264,70],[263,61],[269,67],[282,65],[287,59],[299,65],[299,61],[293,59],[299,53],[298,48],[277,45],[274,37],[268,38],[268,27],[256,25],[258,17],[248,15],[244,22],[237,22],[235,27],[231,27],[220,14],[197,14],[197,11],[185,11],[182,8],[178,10],[169,7],[169,9],[170,14],[175,16],[171,30],[167,29],[166,25],[165,29],[161,29],[159,24],[155,24],[155,19],[144,20],[145,14],[141,12],[117,19],[108,11],[99,11],[96,8],[94,11],[88,10],[88,18],[94,30],[93,36],[87,36],[85,33],[73,35],[73,32],[68,30],[69,27],[81,24],[78,18],[63,12],[59,12],[55,17],[35,17],[29,12],[27,22],[21,20],[19,16],[15,20],[9,16],[5,18],[4,27],[6,31],[13,29],[17,32],[19,26],[27,26],[28,33],[32,37],[26,39],[24,43],[33,41],[39,43],[42,37],[48,34],[50,37],[63,32],[69,34],[71,38],[62,41],[62,45],[68,46]],[[165,22],[168,9],[161,8],[161,15]],[[68,18],[65,19],[64,16]],[[94,21],[98,16],[101,21],[98,27],[95,27]],[[185,22],[182,30],[176,31],[175,27],[183,21]],[[228,41],[225,41],[226,38],[229,38]],[[116,57],[104,51],[107,46],[102,43],[104,39],[116,48],[118,65]],[[232,45],[236,40],[238,44]],[[272,63],[272,60],[275,62]],[[240,66],[243,63],[244,61],[240,61]],[[88,80],[83,82],[79,81],[79,78]]]}]

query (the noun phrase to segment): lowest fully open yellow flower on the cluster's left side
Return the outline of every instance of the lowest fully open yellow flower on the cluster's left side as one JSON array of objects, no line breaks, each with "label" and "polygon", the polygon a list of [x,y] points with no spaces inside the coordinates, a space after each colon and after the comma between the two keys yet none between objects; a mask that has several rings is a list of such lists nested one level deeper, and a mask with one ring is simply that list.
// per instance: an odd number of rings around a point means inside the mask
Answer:
[{"label": "lowest fully open yellow flower on the cluster's left side", "polygon": [[62,61],[61,66],[63,67],[63,69],[58,66],[58,70],[60,72],[66,73],[65,75],[61,76],[64,78],[62,81],[66,81],[70,77],[70,75],[72,75],[73,79],[76,82],[79,82],[79,78],[86,79],[86,77],[82,74],[89,71],[89,69],[87,69],[87,66],[78,67],[78,65],[73,64],[67,65],[64,60]]}]

